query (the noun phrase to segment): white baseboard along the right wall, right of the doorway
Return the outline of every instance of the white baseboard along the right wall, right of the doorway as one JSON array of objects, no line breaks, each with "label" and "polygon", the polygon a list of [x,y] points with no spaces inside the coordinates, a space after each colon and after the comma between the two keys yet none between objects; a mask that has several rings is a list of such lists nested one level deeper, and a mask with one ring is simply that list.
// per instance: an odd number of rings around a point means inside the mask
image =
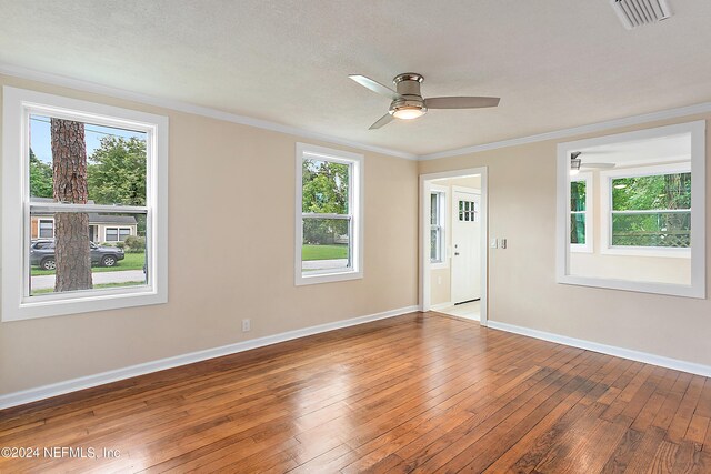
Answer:
[{"label": "white baseboard along the right wall, right of the doorway", "polygon": [[543,341],[555,342],[558,344],[585,349],[588,351],[600,352],[602,354],[614,355],[617,357],[629,359],[631,361],[644,362],[645,364],[659,365],[660,367],[673,369],[675,371],[688,372],[690,374],[711,376],[711,366],[697,364],[695,362],[680,361],[678,359],[664,357],[662,355],[650,354],[648,352],[633,351],[631,349],[618,347],[614,345],[600,344],[598,342],[582,339],[568,337],[544,331],[517,326],[513,324],[500,323],[489,320],[489,329],[501,330],[514,334],[527,335],[541,339]]}]

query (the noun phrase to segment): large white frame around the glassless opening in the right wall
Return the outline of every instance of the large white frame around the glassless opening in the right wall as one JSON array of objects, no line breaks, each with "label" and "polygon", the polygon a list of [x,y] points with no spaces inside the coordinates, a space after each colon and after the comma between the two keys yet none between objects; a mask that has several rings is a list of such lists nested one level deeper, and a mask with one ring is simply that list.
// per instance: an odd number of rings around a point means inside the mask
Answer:
[{"label": "large white frame around the glassless opening in the right wall", "polygon": [[[672,296],[705,299],[707,258],[705,258],[705,129],[704,120],[657,127],[635,132],[617,133],[605,137],[583,139],[558,144],[557,165],[557,259],[555,280],[558,283],[581,286],[604,288]],[[691,137],[691,284],[654,283],[644,281],[619,280],[573,275],[570,273],[570,154],[574,151],[614,144],[627,141],[648,140],[689,133]],[[672,157],[670,157],[672,159]],[[678,160],[674,157],[673,160]],[[604,200],[602,200],[604,202]],[[601,210],[603,211],[603,210]],[[604,215],[604,214],[603,214]],[[604,221],[604,219],[601,219]],[[609,230],[608,230],[609,232]]]}]

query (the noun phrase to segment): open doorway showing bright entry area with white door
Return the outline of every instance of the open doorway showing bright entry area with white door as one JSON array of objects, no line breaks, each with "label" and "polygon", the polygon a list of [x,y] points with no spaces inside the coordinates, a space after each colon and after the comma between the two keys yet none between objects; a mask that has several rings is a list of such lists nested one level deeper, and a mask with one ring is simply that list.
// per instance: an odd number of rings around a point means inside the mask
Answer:
[{"label": "open doorway showing bright entry area with white door", "polygon": [[487,324],[487,169],[420,177],[420,305]]}]

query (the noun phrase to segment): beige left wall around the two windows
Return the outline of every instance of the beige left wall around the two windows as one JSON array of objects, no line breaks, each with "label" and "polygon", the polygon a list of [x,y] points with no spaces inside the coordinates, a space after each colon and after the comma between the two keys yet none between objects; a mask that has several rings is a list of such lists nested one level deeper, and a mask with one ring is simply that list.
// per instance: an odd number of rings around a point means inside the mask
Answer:
[{"label": "beige left wall around the two windows", "polygon": [[0,323],[0,394],[417,304],[417,162],[364,152],[364,278],[297,288],[294,143],[347,148],[9,77],[0,85],[170,119],[169,303]]}]

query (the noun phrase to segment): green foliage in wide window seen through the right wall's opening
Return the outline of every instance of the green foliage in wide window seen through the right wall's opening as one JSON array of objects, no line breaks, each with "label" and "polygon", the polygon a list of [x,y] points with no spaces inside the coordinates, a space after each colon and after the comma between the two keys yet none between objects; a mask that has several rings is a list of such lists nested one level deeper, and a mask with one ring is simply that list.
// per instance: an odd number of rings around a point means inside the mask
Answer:
[{"label": "green foliage in wide window seen through the right wall's opening", "polygon": [[[620,178],[612,181],[613,211],[691,209],[691,173]],[[613,214],[612,244],[689,246],[691,213]]]}]

